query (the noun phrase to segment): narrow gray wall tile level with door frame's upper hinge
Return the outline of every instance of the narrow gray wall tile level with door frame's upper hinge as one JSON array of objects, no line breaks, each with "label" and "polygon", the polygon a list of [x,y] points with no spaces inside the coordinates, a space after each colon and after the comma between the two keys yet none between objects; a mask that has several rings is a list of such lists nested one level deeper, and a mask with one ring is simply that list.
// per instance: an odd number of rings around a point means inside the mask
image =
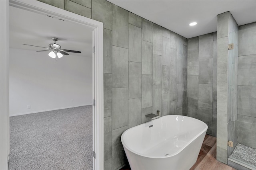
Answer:
[{"label": "narrow gray wall tile level with door frame's upper hinge", "polygon": [[112,73],[112,31],[103,29],[103,72]]}]

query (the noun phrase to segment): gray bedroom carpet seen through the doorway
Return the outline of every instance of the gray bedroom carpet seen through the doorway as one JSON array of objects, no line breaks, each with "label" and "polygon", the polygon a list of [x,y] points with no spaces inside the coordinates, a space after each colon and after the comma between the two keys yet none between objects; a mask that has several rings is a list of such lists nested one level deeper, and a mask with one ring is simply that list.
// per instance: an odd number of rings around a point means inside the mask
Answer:
[{"label": "gray bedroom carpet seen through the doorway", "polygon": [[10,117],[10,170],[92,170],[92,106]]}]

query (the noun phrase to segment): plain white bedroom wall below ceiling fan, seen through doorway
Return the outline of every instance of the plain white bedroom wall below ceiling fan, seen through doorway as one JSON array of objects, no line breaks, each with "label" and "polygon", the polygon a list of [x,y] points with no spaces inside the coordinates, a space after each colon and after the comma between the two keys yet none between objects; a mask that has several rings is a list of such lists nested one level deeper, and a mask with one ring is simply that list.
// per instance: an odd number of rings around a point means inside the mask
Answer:
[{"label": "plain white bedroom wall below ceiling fan, seen through doorway", "polygon": [[92,57],[69,54],[10,48],[10,116],[92,104]]}]

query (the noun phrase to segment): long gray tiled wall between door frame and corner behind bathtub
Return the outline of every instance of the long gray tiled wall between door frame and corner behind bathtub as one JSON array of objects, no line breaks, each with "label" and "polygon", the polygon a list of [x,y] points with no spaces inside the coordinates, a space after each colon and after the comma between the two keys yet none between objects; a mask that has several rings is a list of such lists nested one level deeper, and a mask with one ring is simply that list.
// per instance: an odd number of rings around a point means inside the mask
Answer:
[{"label": "long gray tiled wall between door frame and corner behind bathtub", "polygon": [[125,164],[120,141],[146,114],[187,115],[187,39],[105,0],[40,0],[103,22],[104,169]]}]

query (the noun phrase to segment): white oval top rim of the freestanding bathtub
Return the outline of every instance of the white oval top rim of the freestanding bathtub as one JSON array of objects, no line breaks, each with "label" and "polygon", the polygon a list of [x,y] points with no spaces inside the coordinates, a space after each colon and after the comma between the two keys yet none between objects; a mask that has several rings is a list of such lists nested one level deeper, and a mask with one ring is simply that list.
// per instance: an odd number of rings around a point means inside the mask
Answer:
[{"label": "white oval top rim of the freestanding bathtub", "polygon": [[[164,115],[164,116],[162,116],[162,117],[165,117],[165,116],[189,117],[189,116],[183,116],[183,115]],[[160,118],[162,118],[162,117],[158,117],[157,119],[160,119]],[[189,118],[191,118],[191,119],[196,119],[196,118],[194,118],[194,117],[189,117]],[[151,121],[142,123],[142,124],[140,124],[140,125],[144,125],[144,124],[146,124],[146,123],[156,121],[157,119],[154,119],[154,120],[151,120]],[[192,143],[196,138],[198,138],[200,135],[202,135],[204,132],[207,131],[208,125],[206,125],[206,123],[204,123],[203,121],[201,121],[201,120],[199,120],[199,119],[196,119],[196,120],[202,122],[202,123],[205,125],[205,128],[204,128],[202,131],[200,131],[200,133],[198,133],[195,137],[193,137],[190,141],[188,141],[188,143],[186,143],[186,145],[184,145],[181,149],[179,149],[178,151],[174,152],[173,154],[169,154],[169,155],[166,155],[166,156],[148,156],[148,155],[146,155],[146,154],[141,154],[141,153],[139,153],[139,152],[136,152],[136,151],[133,150],[133,149],[130,149],[130,147],[128,147],[128,146],[126,145],[126,143],[124,142],[124,135],[125,135],[125,133],[126,133],[129,129],[133,129],[133,128],[135,128],[136,126],[131,127],[131,128],[127,129],[126,131],[124,131],[124,132],[122,133],[122,135],[121,135],[121,142],[122,142],[122,145],[123,145],[124,148],[126,148],[126,149],[129,150],[130,152],[133,152],[133,153],[138,154],[138,155],[140,155],[140,156],[144,156],[144,157],[146,157],[146,158],[169,158],[169,157],[175,156],[176,154],[180,153],[182,150],[184,150],[184,148],[186,148],[186,147],[187,147],[190,143]],[[137,126],[139,126],[139,125],[137,125]]]}]

